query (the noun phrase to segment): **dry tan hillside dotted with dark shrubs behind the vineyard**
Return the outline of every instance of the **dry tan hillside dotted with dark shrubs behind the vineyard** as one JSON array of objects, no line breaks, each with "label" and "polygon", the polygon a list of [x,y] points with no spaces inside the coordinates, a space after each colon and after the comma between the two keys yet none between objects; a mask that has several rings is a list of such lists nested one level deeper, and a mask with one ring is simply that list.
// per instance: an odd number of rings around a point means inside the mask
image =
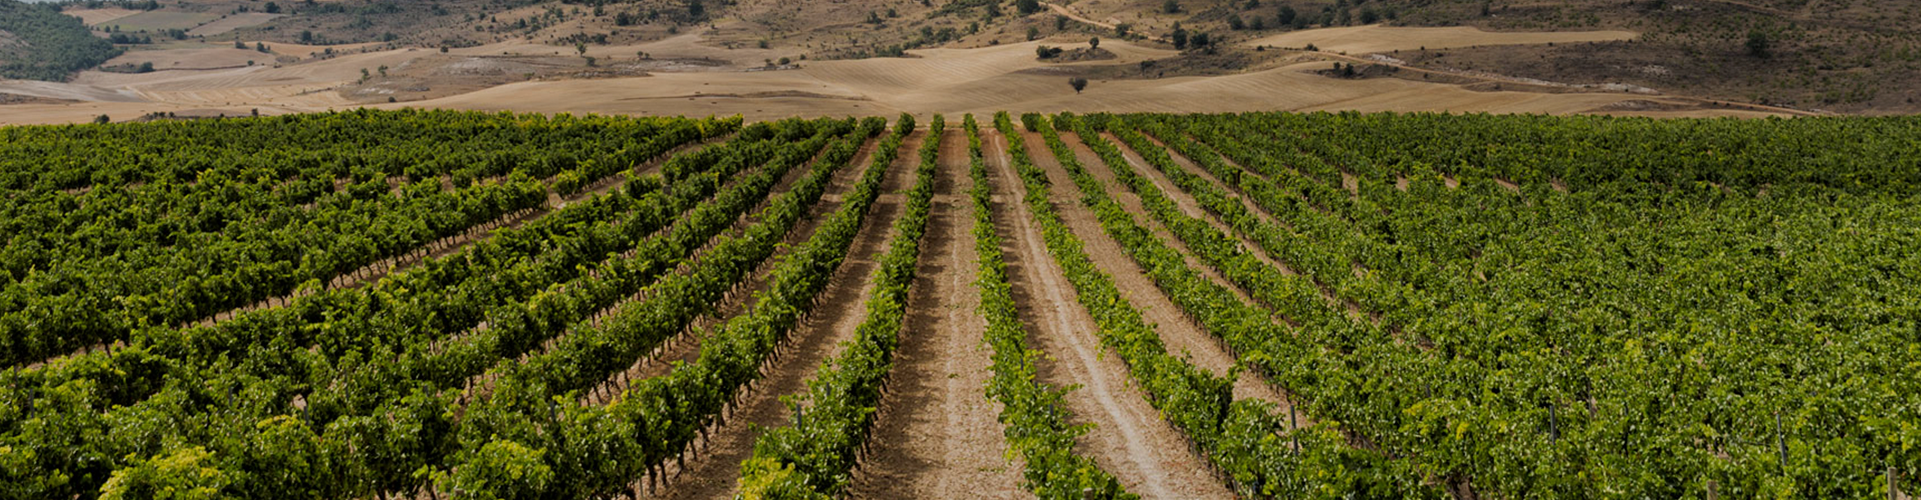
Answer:
[{"label": "dry tan hillside dotted with dark shrubs behind the vineyard", "polygon": [[[156,73],[0,92],[83,96],[17,104],[6,119],[61,123],[352,106],[749,119],[1005,108],[1908,113],[1921,88],[1915,35],[1873,23],[1921,17],[1890,2],[96,2],[65,13],[98,35],[156,38],[108,67]],[[1091,85],[1082,92],[1070,79]],[[117,98],[129,94],[138,102]]]}]

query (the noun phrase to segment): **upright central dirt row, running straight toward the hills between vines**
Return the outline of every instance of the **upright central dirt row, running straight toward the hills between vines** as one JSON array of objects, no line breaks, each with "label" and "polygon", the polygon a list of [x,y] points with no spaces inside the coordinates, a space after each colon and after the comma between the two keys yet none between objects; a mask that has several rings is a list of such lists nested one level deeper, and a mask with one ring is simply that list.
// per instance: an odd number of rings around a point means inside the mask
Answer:
[{"label": "upright central dirt row, running straight toward the hills between vines", "polygon": [[974,290],[968,165],[966,131],[949,127],[901,346],[853,498],[1033,498],[1020,487],[1022,465],[1007,460],[1001,404],[985,392],[993,348]]}]

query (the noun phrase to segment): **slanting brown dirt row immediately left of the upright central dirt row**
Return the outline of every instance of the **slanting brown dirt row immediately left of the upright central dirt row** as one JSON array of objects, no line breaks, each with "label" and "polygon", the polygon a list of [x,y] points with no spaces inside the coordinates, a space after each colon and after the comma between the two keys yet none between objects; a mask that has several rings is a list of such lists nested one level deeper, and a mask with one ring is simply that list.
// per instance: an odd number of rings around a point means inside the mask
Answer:
[{"label": "slanting brown dirt row immediately left of the upright central dirt row", "polygon": [[[878,256],[886,252],[888,233],[907,210],[905,198],[897,192],[912,181],[914,162],[918,162],[912,148],[924,135],[924,131],[916,131],[903,140],[901,154],[888,165],[888,175],[882,179],[882,196],[868,208],[853,244],[847,248],[847,258],[830,277],[826,290],[820,292],[818,306],[788,335],[784,352],[768,365],[763,379],[740,398],[734,412],[726,415],[726,423],[709,435],[693,460],[686,462],[686,469],[672,473],[670,487],[659,494],[661,498],[732,498],[738,488],[740,463],[753,454],[753,442],[761,435],[759,427],[782,427],[791,417],[791,410],[780,396],[805,392],[807,381],[813,379],[820,363],[845,350],[843,342],[853,338],[864,317],[863,302],[874,288],[872,273],[880,265]],[[811,225],[818,227],[832,217],[834,210],[839,208],[838,200],[853,192],[861,171],[870,162],[851,163],[836,175],[832,188],[809,215]],[[763,288],[766,285],[763,283]],[[745,312],[742,308],[736,313]],[[692,358],[697,354],[697,350],[690,352]],[[692,358],[688,360],[692,362]]]}]

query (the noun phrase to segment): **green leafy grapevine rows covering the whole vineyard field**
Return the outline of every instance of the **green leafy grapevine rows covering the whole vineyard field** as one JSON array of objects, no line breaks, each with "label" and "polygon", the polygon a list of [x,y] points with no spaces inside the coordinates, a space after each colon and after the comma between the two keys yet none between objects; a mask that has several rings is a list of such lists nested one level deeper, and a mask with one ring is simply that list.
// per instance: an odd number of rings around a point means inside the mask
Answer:
[{"label": "green leafy grapevine rows covering the whole vineyard field", "polygon": [[[1917,490],[1915,119],[999,113],[1014,175],[982,125],[962,119],[984,390],[1035,496],[1133,498],[1074,452],[1072,388],[1037,381],[1010,215],[1241,496]],[[369,110],[0,129],[0,498],[632,494],[815,310],[914,127]],[[918,144],[857,342],[786,394],[743,496],[847,492],[912,335],[945,127]],[[834,200],[834,179],[855,183]],[[1099,235],[1068,229],[1080,210]],[[1235,369],[1168,352],[1095,237]],[[720,302],[747,308],[695,331]],[[626,377],[693,337],[693,362]],[[1235,400],[1239,377],[1312,425]]]}]

